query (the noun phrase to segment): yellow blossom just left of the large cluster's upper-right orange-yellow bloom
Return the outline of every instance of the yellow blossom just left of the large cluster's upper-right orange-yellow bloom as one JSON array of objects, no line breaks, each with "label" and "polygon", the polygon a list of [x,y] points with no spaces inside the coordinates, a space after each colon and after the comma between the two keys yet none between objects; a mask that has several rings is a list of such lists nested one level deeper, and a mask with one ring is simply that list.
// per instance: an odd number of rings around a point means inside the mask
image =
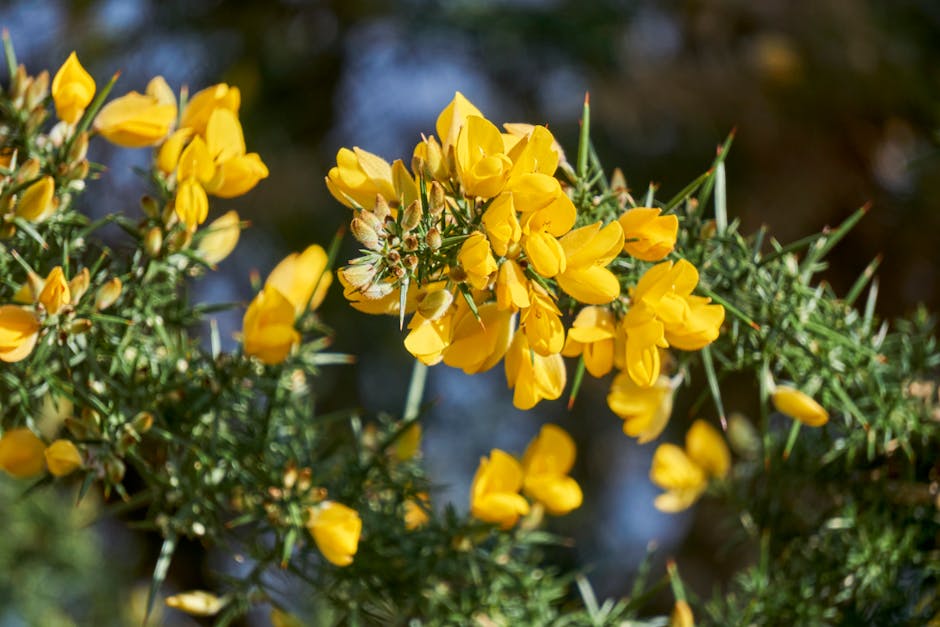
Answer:
[{"label": "yellow blossom just left of the large cluster's upper-right orange-yellow bloom", "polygon": [[620,281],[607,266],[620,254],[623,231],[611,222],[600,222],[571,231],[560,240],[565,251],[565,269],[558,285],[570,296],[588,305],[603,305],[620,295]]}]

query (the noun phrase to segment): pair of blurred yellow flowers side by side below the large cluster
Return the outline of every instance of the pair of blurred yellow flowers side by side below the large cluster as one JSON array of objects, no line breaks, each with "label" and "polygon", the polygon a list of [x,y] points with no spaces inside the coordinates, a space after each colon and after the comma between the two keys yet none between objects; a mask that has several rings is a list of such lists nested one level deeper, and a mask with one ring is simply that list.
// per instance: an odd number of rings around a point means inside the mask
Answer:
[{"label": "pair of blurred yellow flowers side by side below the large cluster", "polygon": [[555,425],[545,425],[526,447],[522,463],[493,449],[470,487],[470,513],[485,522],[509,529],[529,513],[524,492],[549,514],[563,516],[581,506],[581,487],[568,476],[574,466],[571,436]]}]

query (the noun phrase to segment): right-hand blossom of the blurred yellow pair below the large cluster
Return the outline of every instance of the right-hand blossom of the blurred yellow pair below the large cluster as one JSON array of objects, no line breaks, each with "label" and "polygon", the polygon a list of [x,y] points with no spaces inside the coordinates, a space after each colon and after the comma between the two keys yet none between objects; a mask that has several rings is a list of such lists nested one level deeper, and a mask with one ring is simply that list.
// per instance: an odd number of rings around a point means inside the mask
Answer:
[{"label": "right-hand blossom of the blurred yellow pair below the large cluster", "polygon": [[568,476],[574,458],[574,440],[555,425],[543,426],[522,457],[525,493],[554,516],[581,506],[581,487]]}]

